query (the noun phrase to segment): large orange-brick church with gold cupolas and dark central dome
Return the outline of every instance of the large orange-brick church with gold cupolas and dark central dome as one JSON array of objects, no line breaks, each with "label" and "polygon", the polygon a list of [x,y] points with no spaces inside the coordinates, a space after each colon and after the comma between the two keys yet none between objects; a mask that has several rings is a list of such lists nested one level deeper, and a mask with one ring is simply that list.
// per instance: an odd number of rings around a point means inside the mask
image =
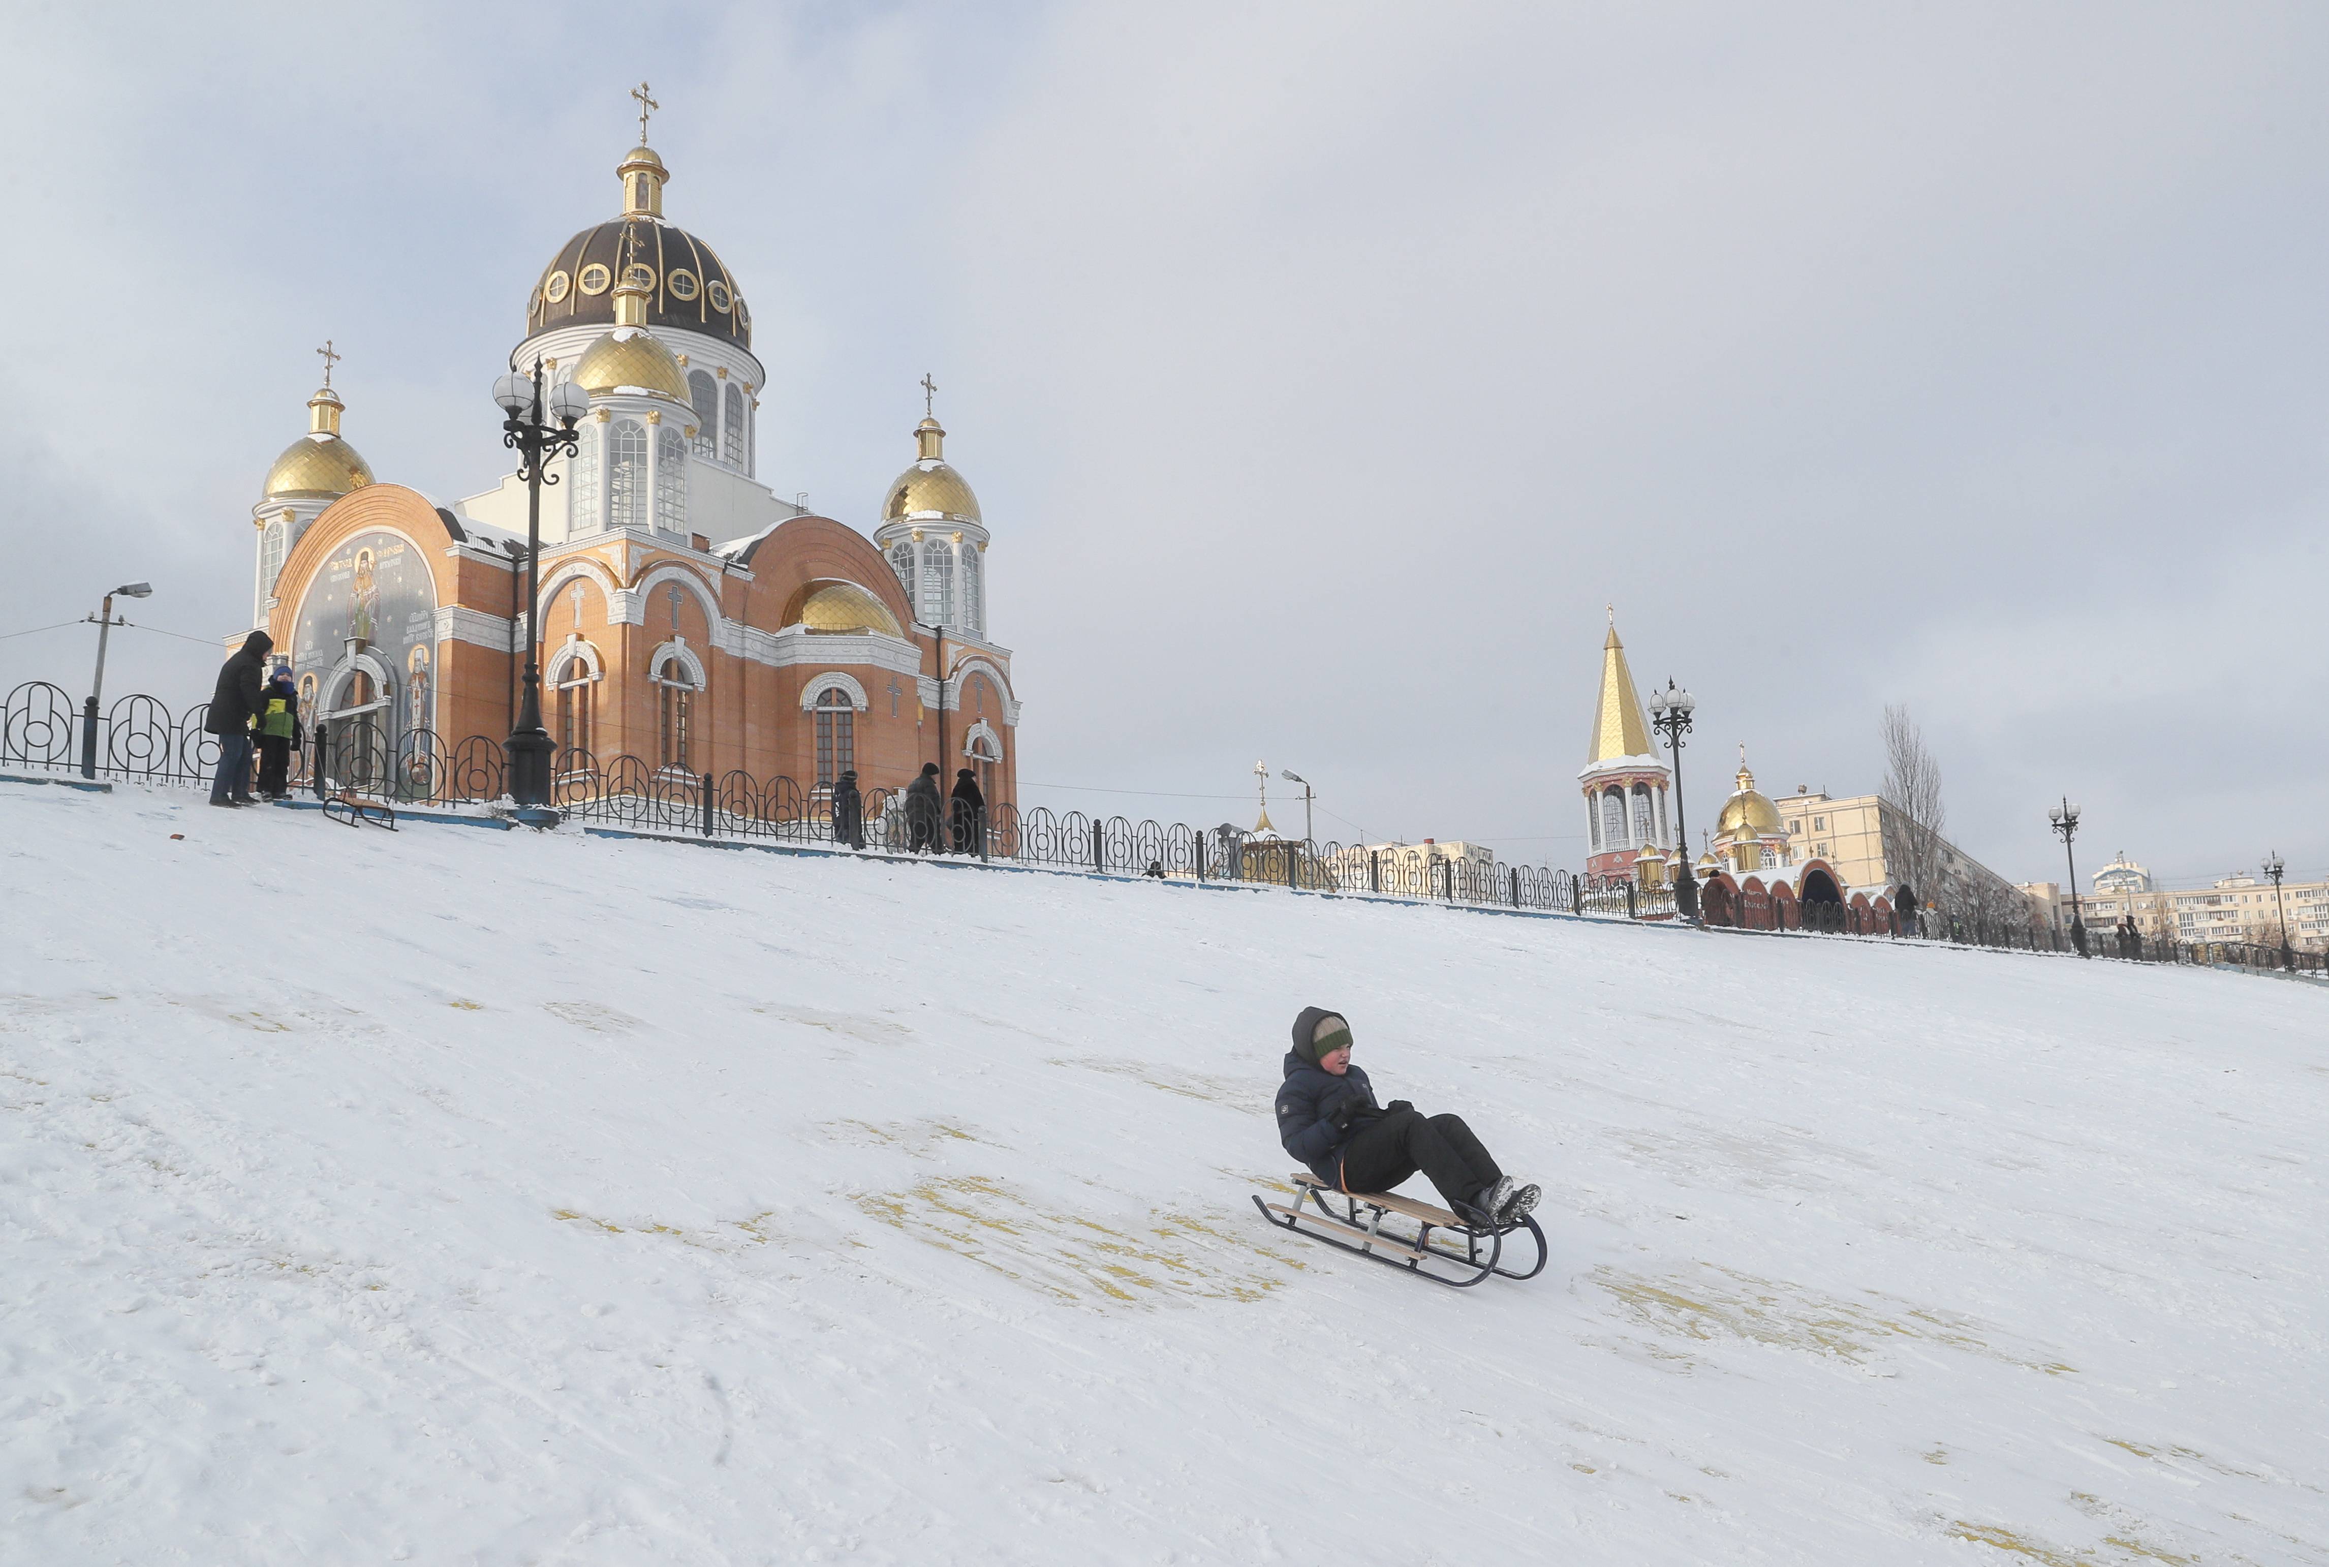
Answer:
[{"label": "large orange-brick church with gold cupolas and dark central dome", "polygon": [[671,172],[645,130],[643,114],[615,168],[622,212],[557,247],[508,356],[589,398],[580,449],[545,463],[540,626],[524,480],[449,508],[377,480],[342,433],[331,345],[307,433],[252,508],[254,624],[310,715],[389,745],[508,736],[531,638],[561,771],[629,754],[808,794],[848,768],[901,787],[936,761],[1015,801],[1020,701],[987,629],[987,529],[946,461],[936,387],[922,380],[913,461],[878,491],[871,533],[780,501],[757,473],[769,370],[743,284],[664,217]]}]

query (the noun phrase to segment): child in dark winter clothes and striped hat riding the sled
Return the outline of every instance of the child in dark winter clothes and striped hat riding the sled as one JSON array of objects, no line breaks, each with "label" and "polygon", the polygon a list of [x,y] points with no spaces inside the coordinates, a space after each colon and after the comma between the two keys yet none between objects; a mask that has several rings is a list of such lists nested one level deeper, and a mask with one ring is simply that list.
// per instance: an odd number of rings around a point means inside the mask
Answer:
[{"label": "child in dark winter clothes and striped hat riding the sled", "polygon": [[1404,1099],[1376,1106],[1351,1064],[1351,1024],[1318,1006],[1295,1018],[1279,1141],[1339,1192],[1388,1192],[1423,1171],[1458,1218],[1512,1225],[1537,1206],[1537,1187],[1514,1187],[1463,1115],[1423,1115]]}]

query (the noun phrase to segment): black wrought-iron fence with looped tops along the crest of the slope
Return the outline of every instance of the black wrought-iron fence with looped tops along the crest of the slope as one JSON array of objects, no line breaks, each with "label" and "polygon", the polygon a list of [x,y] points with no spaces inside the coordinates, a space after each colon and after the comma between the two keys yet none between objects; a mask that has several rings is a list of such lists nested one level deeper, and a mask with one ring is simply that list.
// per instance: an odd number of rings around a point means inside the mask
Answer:
[{"label": "black wrought-iron fence with looped tops along the crest of the slope", "polygon": [[[219,764],[219,736],[203,729],[207,712],[207,703],[196,703],[172,715],[161,701],[133,694],[116,699],[91,726],[61,687],[28,680],[14,687],[0,708],[0,768],[86,771],[91,778],[207,789]],[[391,733],[377,715],[363,715],[312,724],[305,745],[291,754],[289,785],[303,794],[354,794],[391,806],[482,808],[505,801],[508,773],[498,738],[468,736],[445,743],[429,729]],[[838,843],[831,792],[804,787],[785,775],[692,773],[629,754],[599,759],[566,750],[554,757],[552,803],[571,820],[633,831],[824,848]],[[1500,859],[1453,859],[1421,845],[1255,838],[1234,829],[1095,817],[1081,810],[1055,813],[1043,806],[1022,813],[1008,801],[981,813],[957,810],[953,801],[939,801],[934,815],[915,806],[918,801],[904,789],[866,789],[859,831],[850,836],[850,848],[885,855],[971,855],[1095,875],[1246,882],[1605,920],[1675,920],[1672,887],[1640,887],[1633,878],[1598,880]],[[1896,922],[1891,915],[1849,903],[1793,908],[1798,913],[1789,929],[1803,931],[1921,936],[2024,950],[2070,945],[2066,936],[2043,924],[1966,920],[1935,910],[1926,910],[1921,924],[1914,917]],[[1730,917],[1714,908],[1707,915],[1714,924]],[[2140,962],[2238,962],[2259,969],[2278,966],[2282,957],[2264,948],[2227,957],[2224,950],[2194,950],[2164,941],[2138,941],[2133,950],[2119,950],[2108,929],[2089,934],[2089,950],[2098,957]],[[2294,962],[2317,971],[2322,955],[2296,952]]]}]

